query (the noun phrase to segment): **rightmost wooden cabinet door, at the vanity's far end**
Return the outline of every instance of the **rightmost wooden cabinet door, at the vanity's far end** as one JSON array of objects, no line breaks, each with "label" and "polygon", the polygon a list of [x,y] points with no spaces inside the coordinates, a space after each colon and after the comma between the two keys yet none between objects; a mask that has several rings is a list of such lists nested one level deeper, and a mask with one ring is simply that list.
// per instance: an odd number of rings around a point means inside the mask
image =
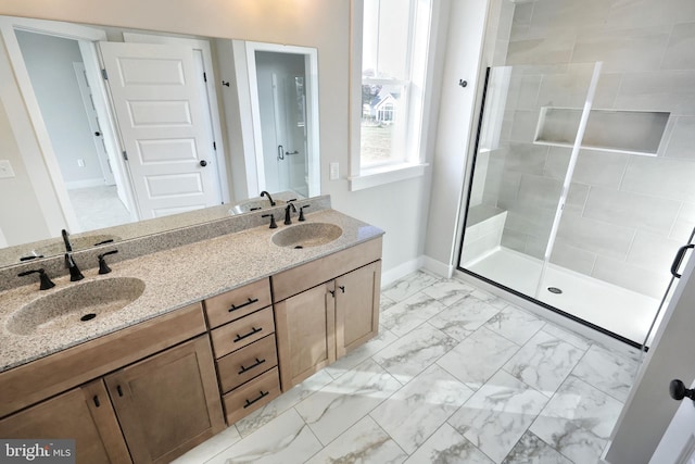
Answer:
[{"label": "rightmost wooden cabinet door, at the vanity's far end", "polygon": [[336,279],[337,356],[357,348],[379,331],[381,261]]}]

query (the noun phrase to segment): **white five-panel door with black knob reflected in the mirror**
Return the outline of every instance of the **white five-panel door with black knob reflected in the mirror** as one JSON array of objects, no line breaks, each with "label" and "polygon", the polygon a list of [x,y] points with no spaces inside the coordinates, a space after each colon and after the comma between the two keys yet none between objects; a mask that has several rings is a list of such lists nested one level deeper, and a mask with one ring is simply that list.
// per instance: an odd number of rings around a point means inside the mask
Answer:
[{"label": "white five-panel door with black knob reflected in the mirror", "polygon": [[141,218],[222,203],[191,48],[101,42]]}]

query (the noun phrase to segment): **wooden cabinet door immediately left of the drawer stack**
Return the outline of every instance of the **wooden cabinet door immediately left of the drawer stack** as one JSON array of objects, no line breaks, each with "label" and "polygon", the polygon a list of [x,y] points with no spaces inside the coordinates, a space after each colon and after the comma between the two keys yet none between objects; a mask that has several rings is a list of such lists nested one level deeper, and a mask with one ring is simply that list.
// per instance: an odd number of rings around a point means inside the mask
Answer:
[{"label": "wooden cabinet door immediately left of the drawer stack", "polygon": [[105,379],[136,463],[169,462],[225,427],[207,336]]}]

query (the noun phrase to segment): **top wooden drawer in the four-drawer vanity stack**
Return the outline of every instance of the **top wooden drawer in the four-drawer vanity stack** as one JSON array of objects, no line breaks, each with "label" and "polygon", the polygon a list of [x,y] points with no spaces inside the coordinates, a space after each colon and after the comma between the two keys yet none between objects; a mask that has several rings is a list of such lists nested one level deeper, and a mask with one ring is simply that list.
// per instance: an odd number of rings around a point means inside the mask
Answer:
[{"label": "top wooden drawer in the four-drawer vanity stack", "polygon": [[254,281],[205,300],[205,314],[211,328],[238,319],[270,304],[267,278]]}]

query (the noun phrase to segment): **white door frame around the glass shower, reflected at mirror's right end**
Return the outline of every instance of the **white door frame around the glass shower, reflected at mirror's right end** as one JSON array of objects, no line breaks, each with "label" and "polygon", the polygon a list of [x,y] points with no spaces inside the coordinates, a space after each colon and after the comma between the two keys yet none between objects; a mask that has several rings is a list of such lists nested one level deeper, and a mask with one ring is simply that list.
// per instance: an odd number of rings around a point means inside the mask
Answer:
[{"label": "white door frame around the glass shower, reflected at mirror's right end", "polygon": [[[249,197],[257,197],[265,190],[265,170],[263,159],[263,138],[261,135],[261,105],[258,103],[258,81],[256,76],[256,51],[291,53],[304,55],[304,78],[306,89],[306,162],[308,171],[308,196],[320,195],[320,156],[318,125],[318,52],[314,48],[286,46],[277,43],[233,40],[235,68],[237,83],[247,83],[248,88],[238,85],[239,104],[249,102],[250,108],[241,109],[251,113],[252,125],[242,125],[242,138],[253,140],[244,152],[247,165],[247,185]],[[243,50],[243,53],[239,53]],[[243,93],[248,92],[248,97]]]}]

